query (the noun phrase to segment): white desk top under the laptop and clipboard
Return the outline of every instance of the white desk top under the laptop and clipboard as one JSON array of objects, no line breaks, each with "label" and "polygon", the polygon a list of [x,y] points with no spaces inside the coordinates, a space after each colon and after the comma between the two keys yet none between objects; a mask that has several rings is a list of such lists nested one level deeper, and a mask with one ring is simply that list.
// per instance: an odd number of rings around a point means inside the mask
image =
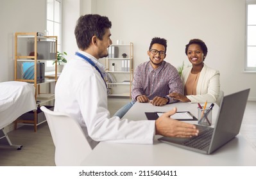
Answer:
[{"label": "white desk top under the laptop and clipboard", "polygon": [[[144,112],[191,111],[196,115],[196,104],[176,103],[164,107],[135,103],[124,118],[146,120]],[[218,114],[214,106],[212,119]],[[157,137],[156,137],[157,138]],[[84,166],[256,166],[256,152],[240,134],[211,155],[191,152],[157,140],[153,145],[116,144],[101,142],[83,162]]]}]

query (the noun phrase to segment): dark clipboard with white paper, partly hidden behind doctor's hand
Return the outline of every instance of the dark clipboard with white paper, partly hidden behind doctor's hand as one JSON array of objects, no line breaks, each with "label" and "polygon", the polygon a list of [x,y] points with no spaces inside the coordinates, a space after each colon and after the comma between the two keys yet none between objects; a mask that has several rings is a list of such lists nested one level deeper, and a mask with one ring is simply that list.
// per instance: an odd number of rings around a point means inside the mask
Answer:
[{"label": "dark clipboard with white paper, partly hidden behind doctor's hand", "polygon": [[[157,118],[159,118],[158,114],[163,114],[163,113],[165,112],[145,112],[148,120],[157,120]],[[180,112],[176,112],[175,114],[179,115],[178,118],[176,119],[174,118],[175,120],[178,120],[178,121],[197,121],[198,120],[189,111],[180,111]],[[184,118],[180,118],[180,116],[184,116]]]}]

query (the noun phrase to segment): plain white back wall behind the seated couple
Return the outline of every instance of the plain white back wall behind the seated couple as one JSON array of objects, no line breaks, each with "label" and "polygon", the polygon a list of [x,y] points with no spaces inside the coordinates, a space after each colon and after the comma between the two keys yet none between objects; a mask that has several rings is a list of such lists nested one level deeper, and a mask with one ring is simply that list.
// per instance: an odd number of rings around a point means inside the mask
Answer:
[{"label": "plain white back wall behind the seated couple", "polygon": [[97,0],[96,13],[112,21],[112,40],[134,43],[134,68],[148,60],[151,38],[167,39],[166,61],[189,64],[185,45],[200,38],[209,48],[205,63],[221,73],[225,94],[251,88],[256,100],[256,74],[245,74],[245,0]]}]

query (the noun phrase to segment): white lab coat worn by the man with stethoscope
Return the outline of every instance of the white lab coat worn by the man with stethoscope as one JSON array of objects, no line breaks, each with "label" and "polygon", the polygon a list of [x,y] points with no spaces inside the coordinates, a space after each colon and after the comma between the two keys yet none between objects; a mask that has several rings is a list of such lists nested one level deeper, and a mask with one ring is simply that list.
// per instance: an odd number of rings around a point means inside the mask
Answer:
[{"label": "white lab coat worn by the man with stethoscope", "polygon": [[[89,54],[79,52],[99,63]],[[103,70],[103,66],[98,64],[98,67]],[[55,111],[68,113],[76,119],[92,148],[96,146],[95,141],[153,143],[155,121],[110,118],[105,82],[94,66],[78,56],[65,65],[56,82]]]}]

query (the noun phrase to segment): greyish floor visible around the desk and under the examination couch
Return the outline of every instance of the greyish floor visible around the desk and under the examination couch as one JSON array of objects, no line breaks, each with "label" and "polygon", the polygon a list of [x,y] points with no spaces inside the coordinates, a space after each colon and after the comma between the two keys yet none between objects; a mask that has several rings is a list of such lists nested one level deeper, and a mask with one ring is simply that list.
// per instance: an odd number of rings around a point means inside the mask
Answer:
[{"label": "greyish floor visible around the desk and under the examination couch", "polygon": [[[130,99],[109,98],[108,108],[113,115]],[[244,113],[241,134],[256,152],[256,102],[248,102]],[[13,144],[22,144],[22,150],[0,147],[0,166],[55,166],[55,148],[47,123],[33,127],[24,126],[8,133]]]}]

